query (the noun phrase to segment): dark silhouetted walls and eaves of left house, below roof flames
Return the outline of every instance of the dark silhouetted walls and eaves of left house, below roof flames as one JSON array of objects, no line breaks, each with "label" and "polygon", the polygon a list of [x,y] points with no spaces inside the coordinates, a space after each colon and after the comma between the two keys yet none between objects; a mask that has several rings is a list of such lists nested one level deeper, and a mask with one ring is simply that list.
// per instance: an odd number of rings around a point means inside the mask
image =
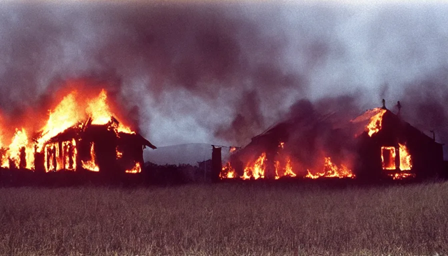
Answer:
[{"label": "dark silhouetted walls and eaves of left house, below roof flames", "polygon": [[[143,148],[156,147],[135,132],[118,131],[118,126],[118,121],[111,117],[106,124],[92,124],[89,119],[65,129],[45,141],[40,150],[35,146],[34,172],[94,171],[109,177],[140,172]],[[23,147],[19,168],[24,169],[25,165]]]}]

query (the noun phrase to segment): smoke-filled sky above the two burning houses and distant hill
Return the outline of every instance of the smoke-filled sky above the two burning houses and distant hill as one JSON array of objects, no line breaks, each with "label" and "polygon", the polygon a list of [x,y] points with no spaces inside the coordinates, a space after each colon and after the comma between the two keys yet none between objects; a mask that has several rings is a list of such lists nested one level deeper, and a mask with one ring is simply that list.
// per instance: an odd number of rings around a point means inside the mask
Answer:
[{"label": "smoke-filled sky above the two burning houses and distant hill", "polygon": [[400,100],[448,142],[448,4],[0,4],[3,115],[78,78],[107,82],[156,146],[244,145],[294,102],[341,95],[358,113]]}]

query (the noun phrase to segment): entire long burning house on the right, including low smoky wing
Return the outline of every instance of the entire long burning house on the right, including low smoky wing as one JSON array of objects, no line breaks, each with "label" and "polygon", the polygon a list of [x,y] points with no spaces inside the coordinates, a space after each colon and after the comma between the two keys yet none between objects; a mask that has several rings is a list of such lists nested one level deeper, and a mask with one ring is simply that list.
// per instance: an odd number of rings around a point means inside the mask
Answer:
[{"label": "entire long burning house on the right, including low smoky wing", "polygon": [[221,179],[426,178],[443,169],[442,144],[382,108],[335,127],[312,109],[253,137],[232,154]]}]

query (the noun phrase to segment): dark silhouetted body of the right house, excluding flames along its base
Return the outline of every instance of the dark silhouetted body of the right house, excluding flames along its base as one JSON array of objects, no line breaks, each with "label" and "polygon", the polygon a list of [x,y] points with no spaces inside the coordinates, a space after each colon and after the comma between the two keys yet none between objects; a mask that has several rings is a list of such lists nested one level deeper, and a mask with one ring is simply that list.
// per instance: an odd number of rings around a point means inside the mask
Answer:
[{"label": "dark silhouetted body of the right house, excluding flames along its base", "polygon": [[[401,104],[397,102],[397,106],[399,111]],[[370,136],[366,125],[379,112],[383,112],[381,127]],[[266,178],[273,177],[274,160],[279,152],[298,163],[294,169],[298,176],[304,176],[323,156],[330,156],[336,165],[349,163],[356,178],[367,180],[395,174],[401,175],[395,178],[407,175],[418,179],[445,175],[442,144],[435,141],[434,134],[428,136],[402,120],[399,114],[385,107],[384,100],[381,108],[360,115],[361,122],[352,120],[337,128],[329,121],[329,116],[307,113],[272,126],[231,155],[229,161],[237,176],[242,175],[245,163],[253,162],[262,152],[267,159],[264,163]],[[285,143],[280,149],[281,142]],[[400,159],[405,155],[408,155],[408,162]]]}]

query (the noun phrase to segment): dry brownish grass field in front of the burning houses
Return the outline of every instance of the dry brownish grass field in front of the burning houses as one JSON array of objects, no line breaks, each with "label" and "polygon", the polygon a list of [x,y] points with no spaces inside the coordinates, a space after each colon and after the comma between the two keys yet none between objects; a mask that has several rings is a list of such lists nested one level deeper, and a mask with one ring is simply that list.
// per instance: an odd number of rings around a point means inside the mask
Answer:
[{"label": "dry brownish grass field in front of the burning houses", "polygon": [[1,255],[437,255],[448,182],[0,188]]}]

